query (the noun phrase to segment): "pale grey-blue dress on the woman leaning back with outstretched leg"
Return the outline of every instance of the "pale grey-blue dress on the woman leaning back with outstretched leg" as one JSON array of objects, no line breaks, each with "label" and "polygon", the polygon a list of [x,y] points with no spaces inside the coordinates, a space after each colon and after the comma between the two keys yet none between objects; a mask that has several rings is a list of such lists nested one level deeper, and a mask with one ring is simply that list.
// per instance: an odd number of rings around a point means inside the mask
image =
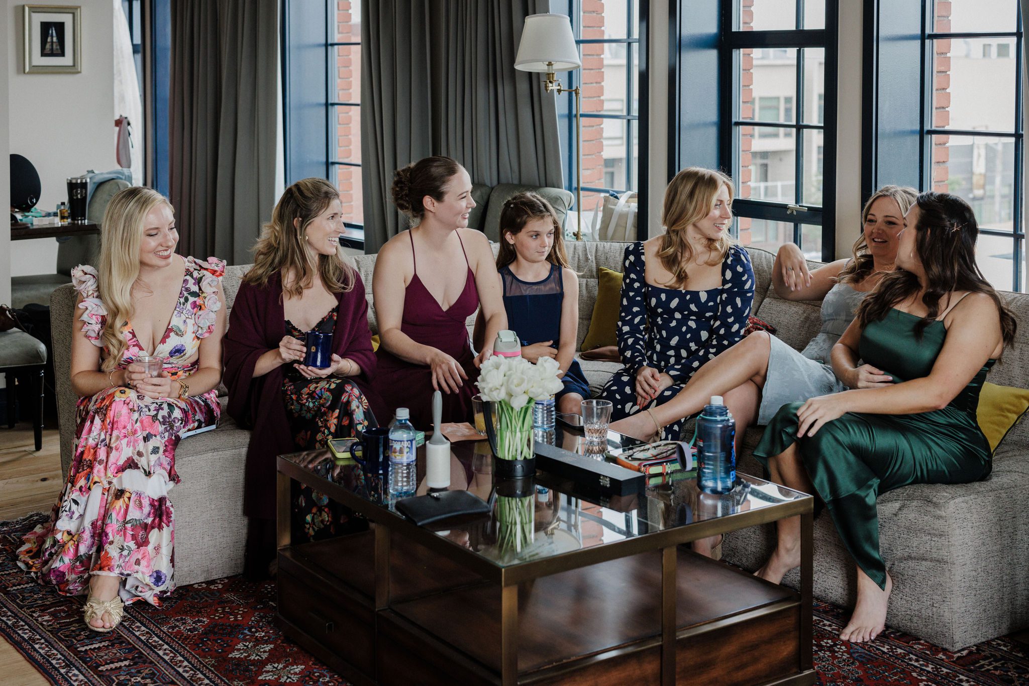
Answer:
[{"label": "pale grey-blue dress on the woman leaning back with outstretched leg", "polygon": [[822,299],[822,328],[801,353],[772,336],[769,368],[757,412],[759,426],[771,422],[787,403],[847,390],[832,371],[830,355],[832,346],[850,326],[854,311],[865,295],[867,293],[856,291],[849,284],[833,286]]}]

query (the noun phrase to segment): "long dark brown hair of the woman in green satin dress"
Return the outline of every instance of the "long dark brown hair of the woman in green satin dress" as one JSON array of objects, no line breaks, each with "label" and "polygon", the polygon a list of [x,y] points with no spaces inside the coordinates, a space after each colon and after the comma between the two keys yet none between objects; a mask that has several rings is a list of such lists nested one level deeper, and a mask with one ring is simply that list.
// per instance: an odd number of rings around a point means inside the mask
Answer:
[{"label": "long dark brown hair of the woman in green satin dress", "polygon": [[[1000,315],[1001,338],[1005,347],[1010,346],[1018,328],[1015,317],[975,264],[975,214],[967,203],[950,193],[924,192],[915,202],[918,222],[904,230],[915,231],[915,249],[925,270],[922,302],[928,310],[915,327],[916,335],[921,337],[925,327],[939,315],[941,298],[954,291],[969,291],[986,293],[993,299]],[[884,276],[857,309],[861,327],[883,319],[893,305],[915,295],[921,287],[918,277],[906,269]]]}]

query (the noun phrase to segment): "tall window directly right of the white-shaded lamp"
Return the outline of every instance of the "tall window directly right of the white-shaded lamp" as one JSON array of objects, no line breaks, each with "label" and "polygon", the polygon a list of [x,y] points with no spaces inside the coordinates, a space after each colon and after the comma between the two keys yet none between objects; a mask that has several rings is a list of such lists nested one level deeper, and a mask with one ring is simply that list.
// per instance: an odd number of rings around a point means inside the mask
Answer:
[{"label": "tall window directly right of the white-shaded lamp", "polygon": [[[572,29],[582,60],[582,69],[569,75],[572,86],[582,87],[582,207],[576,209],[583,213],[583,231],[593,225],[605,195],[627,190],[643,191],[640,74],[645,73],[645,66],[641,63],[644,52],[640,48],[645,41],[641,43],[640,15],[645,16],[647,4],[647,0],[570,2]],[[574,109],[570,104],[568,111],[573,117]],[[565,178],[574,192],[575,122],[572,117],[569,117]],[[645,167],[645,154],[643,158]]]}]

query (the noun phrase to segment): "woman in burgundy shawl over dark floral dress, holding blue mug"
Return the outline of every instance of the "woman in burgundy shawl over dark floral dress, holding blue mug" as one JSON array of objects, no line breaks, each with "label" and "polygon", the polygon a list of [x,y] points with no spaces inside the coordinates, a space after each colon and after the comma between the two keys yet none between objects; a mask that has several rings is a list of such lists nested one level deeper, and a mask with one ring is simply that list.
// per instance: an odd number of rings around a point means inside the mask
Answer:
[{"label": "woman in burgundy shawl over dark floral dress, holding blue mug", "polygon": [[[378,426],[376,357],[364,285],[339,249],[342,208],[324,179],[283,194],[244,277],[225,338],[228,413],[251,429],[244,513],[250,517],[247,573],[262,576],[275,555],[279,455],[325,447]],[[285,286],[284,286],[285,281]],[[303,363],[306,331],[331,333],[328,367]],[[310,489],[292,495],[293,535],[311,540],[345,530],[349,512]]]}]

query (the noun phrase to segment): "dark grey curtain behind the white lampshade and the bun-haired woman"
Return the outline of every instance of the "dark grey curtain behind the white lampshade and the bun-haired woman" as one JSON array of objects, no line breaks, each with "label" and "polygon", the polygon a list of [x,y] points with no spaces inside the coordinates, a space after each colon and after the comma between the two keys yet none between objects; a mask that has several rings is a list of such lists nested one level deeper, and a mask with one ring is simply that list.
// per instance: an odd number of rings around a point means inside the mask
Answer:
[{"label": "dark grey curtain behind the white lampshade and the bun-haired woman", "polygon": [[554,95],[514,69],[525,17],[549,0],[361,0],[364,251],[406,228],[393,172],[431,154],[472,181],[563,187]]}]

